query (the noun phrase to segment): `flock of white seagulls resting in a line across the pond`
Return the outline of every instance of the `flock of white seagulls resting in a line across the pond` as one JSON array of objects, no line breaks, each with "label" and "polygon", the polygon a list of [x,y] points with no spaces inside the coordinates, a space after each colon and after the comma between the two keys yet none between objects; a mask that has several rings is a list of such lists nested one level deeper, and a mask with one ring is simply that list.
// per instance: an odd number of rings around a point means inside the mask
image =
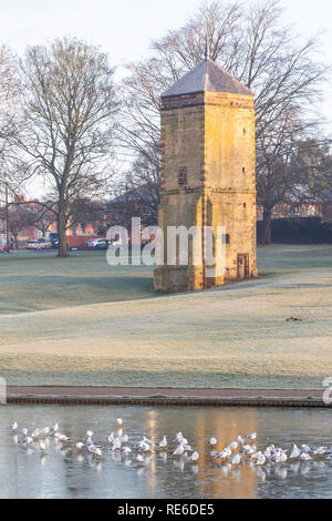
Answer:
[{"label": "flock of white seagulls resting in a line across the pond", "polygon": [[[122,453],[126,457],[132,454],[136,456],[136,460],[139,463],[144,463],[145,457],[152,452],[160,451],[162,453],[167,453],[169,447],[172,447],[173,456],[175,458],[185,457],[188,462],[197,463],[199,461],[200,454],[195,450],[185,438],[183,432],[178,432],[172,443],[168,442],[167,437],[160,441],[154,441],[147,436],[143,436],[142,440],[129,447],[129,437],[123,432],[123,420],[117,419],[117,432],[116,435],[112,432],[107,438],[107,449],[113,453]],[[12,423],[10,427],[12,435],[19,440],[18,422]],[[42,454],[46,453],[49,437],[53,437],[56,443],[62,445],[63,447],[68,443],[72,443],[72,440],[66,435],[60,432],[59,423],[55,423],[53,427],[44,427],[42,429],[34,429],[33,432],[29,435],[29,429],[21,429],[21,439],[20,441],[24,447],[37,447],[39,448]],[[77,441],[74,443],[75,450],[77,453],[82,453],[84,450],[87,453],[92,454],[93,458],[100,460],[103,458],[105,448],[97,446],[94,440],[94,432],[87,430],[86,439],[84,441]],[[321,459],[324,456],[328,459],[332,459],[332,448],[329,450],[328,447],[318,447],[310,448],[308,445],[302,445],[298,447],[293,445],[292,450],[284,450],[282,448],[277,448],[273,445],[269,445],[264,450],[257,450],[257,433],[247,435],[243,438],[239,436],[237,441],[231,442],[228,447],[225,447],[221,451],[218,450],[218,439],[212,437],[208,442],[207,447],[210,450],[210,457],[214,461],[220,463],[228,463],[231,467],[239,467],[245,461],[249,461],[252,466],[258,468],[263,468],[267,464],[283,466],[287,461],[311,461],[314,459]]]}]

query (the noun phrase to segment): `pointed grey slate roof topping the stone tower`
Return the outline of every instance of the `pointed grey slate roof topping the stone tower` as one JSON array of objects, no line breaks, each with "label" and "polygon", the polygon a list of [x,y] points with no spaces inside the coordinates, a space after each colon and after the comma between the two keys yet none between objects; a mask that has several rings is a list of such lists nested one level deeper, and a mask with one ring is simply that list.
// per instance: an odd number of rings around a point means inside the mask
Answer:
[{"label": "pointed grey slate roof topping the stone tower", "polygon": [[162,98],[206,91],[255,96],[250,89],[210,60],[207,50],[206,59],[164,92]]}]

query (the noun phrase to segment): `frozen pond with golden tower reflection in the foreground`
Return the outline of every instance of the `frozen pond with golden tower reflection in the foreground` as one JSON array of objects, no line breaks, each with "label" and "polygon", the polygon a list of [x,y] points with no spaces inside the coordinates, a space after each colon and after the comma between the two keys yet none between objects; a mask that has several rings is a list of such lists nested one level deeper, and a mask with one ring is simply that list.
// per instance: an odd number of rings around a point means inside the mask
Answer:
[{"label": "frozen pond with golden tower reflection in the foreground", "polygon": [[[175,443],[167,453],[156,450],[136,460],[111,452],[106,439],[116,432],[116,419],[123,419],[123,431],[133,447],[145,433],[159,441],[164,435],[172,441],[183,431],[198,450],[197,464],[186,457],[175,457]],[[9,426],[18,421],[18,440]],[[43,456],[37,446],[21,443],[21,428],[60,423],[61,432],[71,437],[66,446],[52,437]],[[84,440],[87,429],[94,441],[104,447],[100,461],[87,450],[79,454],[76,441]],[[153,407],[0,407],[0,498],[332,498],[332,460],[315,458],[309,462],[250,464],[249,459],[235,468],[217,463],[210,456],[208,440],[216,436],[218,449],[227,447],[239,435],[257,431],[258,449],[269,443],[291,449],[292,442],[310,447],[332,447],[330,410],[255,409],[255,408],[153,408]]]}]

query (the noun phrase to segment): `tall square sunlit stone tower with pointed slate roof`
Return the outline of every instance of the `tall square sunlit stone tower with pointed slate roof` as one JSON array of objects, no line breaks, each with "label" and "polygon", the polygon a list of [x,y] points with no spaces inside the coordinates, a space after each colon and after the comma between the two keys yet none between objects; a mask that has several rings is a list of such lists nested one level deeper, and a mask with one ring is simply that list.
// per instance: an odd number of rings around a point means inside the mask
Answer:
[{"label": "tall square sunlit stone tower with pointed slate roof", "polygon": [[[159,227],[226,228],[226,270],[164,265],[155,289],[196,290],[257,276],[255,94],[206,55],[162,95],[162,194]],[[203,234],[203,248],[204,248]],[[219,262],[218,258],[216,260]],[[197,263],[196,263],[197,264]],[[225,260],[224,260],[225,266]]]}]

